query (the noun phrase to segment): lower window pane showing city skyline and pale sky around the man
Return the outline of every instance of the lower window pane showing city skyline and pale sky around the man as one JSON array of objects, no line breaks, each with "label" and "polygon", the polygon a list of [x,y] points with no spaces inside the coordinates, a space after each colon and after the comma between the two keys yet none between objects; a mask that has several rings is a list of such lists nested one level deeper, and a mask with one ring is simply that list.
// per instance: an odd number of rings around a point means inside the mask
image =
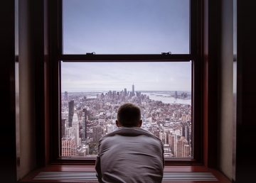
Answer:
[{"label": "lower window pane showing city skyline and pale sky around the man", "polygon": [[61,157],[95,157],[131,102],[165,157],[192,157],[191,62],[61,62]]}]

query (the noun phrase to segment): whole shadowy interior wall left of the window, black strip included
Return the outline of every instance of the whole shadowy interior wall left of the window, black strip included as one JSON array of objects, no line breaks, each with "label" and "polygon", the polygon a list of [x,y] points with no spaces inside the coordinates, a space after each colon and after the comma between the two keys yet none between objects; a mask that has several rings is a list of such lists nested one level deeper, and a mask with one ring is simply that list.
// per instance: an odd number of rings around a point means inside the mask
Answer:
[{"label": "whole shadowy interior wall left of the window, black strip included", "polygon": [[37,142],[45,138],[44,55],[48,47],[45,2],[1,2],[1,116],[5,118],[1,118],[0,134],[4,143],[1,145],[4,182],[16,182],[44,162],[44,145]]}]

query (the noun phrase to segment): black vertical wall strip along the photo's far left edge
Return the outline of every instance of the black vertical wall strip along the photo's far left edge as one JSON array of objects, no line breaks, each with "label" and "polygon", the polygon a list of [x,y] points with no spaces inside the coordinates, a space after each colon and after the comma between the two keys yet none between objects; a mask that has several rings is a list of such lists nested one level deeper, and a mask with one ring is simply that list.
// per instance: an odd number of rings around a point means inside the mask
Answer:
[{"label": "black vertical wall strip along the photo's far left edge", "polygon": [[1,182],[16,182],[14,0],[0,2]]}]

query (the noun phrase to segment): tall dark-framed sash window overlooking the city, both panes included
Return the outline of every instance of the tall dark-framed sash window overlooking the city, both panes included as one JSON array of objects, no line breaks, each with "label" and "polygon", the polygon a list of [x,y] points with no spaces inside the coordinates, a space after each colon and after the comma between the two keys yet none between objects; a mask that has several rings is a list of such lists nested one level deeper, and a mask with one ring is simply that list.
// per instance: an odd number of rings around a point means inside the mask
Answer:
[{"label": "tall dark-framed sash window overlooking the city, both panes included", "polygon": [[59,1],[55,157],[93,160],[118,107],[133,102],[167,161],[200,158],[196,2]]}]

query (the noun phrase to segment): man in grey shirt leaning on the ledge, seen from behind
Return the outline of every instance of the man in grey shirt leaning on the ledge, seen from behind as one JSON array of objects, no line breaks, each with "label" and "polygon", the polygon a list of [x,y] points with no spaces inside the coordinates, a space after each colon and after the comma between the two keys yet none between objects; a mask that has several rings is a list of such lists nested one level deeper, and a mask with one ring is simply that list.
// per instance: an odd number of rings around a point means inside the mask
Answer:
[{"label": "man in grey shirt leaning on the ledge, seen from behind", "polygon": [[124,104],[117,112],[117,130],[99,141],[95,169],[99,182],[161,182],[164,148],[161,140],[140,128],[141,112]]}]

